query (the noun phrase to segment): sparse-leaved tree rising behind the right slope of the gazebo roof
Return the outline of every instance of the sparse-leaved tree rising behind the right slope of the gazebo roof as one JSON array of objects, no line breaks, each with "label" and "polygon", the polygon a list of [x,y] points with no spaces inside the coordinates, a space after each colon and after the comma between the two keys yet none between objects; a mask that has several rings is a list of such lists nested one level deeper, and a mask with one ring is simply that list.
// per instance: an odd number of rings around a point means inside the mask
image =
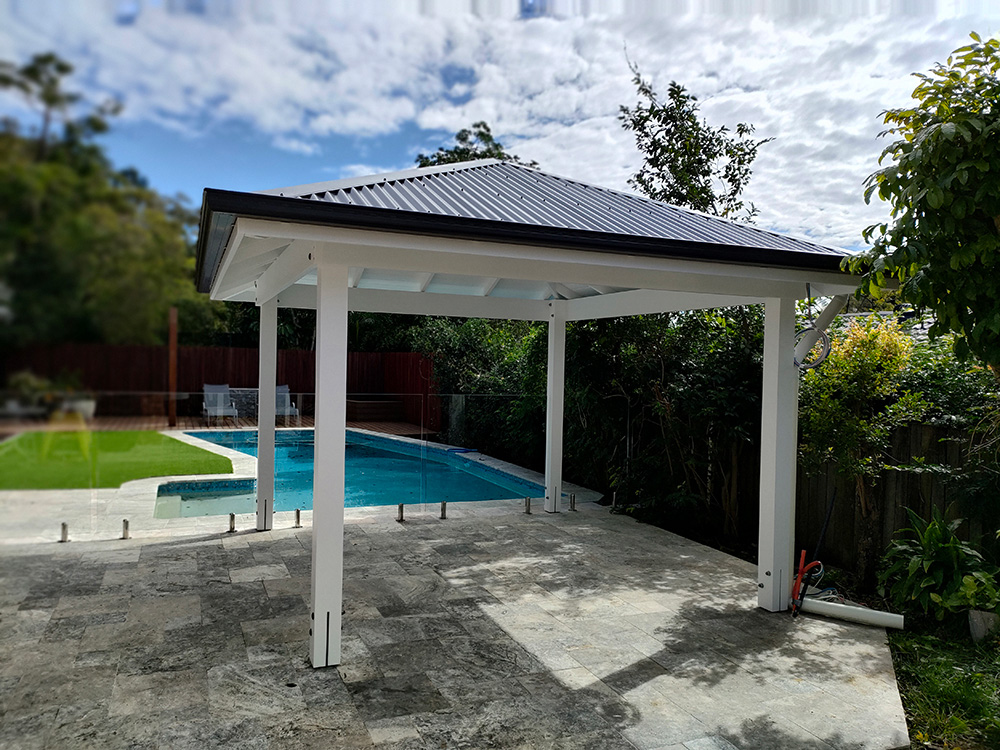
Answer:
[{"label": "sparse-leaved tree rising behind the right slope of the gazebo roof", "polygon": [[751,221],[757,209],[740,194],[757,150],[772,139],[755,140],[754,126],[743,122],[735,134],[725,125],[709,125],[698,116],[698,100],[676,81],[661,102],[638,66],[630,62],[629,68],[641,100],[633,108],[620,107],[618,119],[635,133],[643,154],[643,166],[629,184],[653,200]]}]

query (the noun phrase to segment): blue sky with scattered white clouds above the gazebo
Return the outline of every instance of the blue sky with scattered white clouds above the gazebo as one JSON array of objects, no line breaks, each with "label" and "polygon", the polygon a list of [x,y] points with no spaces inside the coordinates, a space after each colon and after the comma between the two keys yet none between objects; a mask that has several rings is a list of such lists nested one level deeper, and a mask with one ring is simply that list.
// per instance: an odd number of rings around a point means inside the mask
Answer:
[{"label": "blue sky with scattered white clouds above the gazebo", "polygon": [[[409,169],[479,120],[547,172],[631,190],[632,61],[773,138],[744,193],[758,226],[848,248],[888,217],[863,199],[880,113],[971,31],[1000,32],[1000,1],[0,0],[0,60],[71,62],[85,102],[123,104],[116,166],[194,207]],[[38,122],[11,93],[0,116]]]}]

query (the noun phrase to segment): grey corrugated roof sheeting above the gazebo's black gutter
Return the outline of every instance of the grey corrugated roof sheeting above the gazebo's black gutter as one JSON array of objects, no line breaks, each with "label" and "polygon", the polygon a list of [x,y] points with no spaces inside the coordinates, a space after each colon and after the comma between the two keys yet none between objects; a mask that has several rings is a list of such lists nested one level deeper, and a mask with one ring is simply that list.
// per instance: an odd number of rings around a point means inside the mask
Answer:
[{"label": "grey corrugated roof sheeting above the gazebo's black gutter", "polygon": [[842,255],[843,251],[509,162],[299,194],[306,200],[514,224]]}]

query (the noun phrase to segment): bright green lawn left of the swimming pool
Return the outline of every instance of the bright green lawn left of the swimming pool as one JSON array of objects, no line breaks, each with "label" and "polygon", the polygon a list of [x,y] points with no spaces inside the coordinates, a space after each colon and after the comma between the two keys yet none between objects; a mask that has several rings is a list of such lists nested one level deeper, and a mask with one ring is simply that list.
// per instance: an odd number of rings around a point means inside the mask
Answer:
[{"label": "bright green lawn left of the swimming pool", "polygon": [[170,474],[231,474],[233,464],[158,432],[26,432],[0,443],[0,490],[118,487]]}]

